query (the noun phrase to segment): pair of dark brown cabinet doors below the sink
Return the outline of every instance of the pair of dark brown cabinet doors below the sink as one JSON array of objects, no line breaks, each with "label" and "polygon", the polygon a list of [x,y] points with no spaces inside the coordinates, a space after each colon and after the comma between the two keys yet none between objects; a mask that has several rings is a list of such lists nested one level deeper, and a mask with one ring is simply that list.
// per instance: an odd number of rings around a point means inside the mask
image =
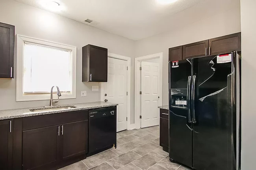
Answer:
[{"label": "pair of dark brown cabinet doors below the sink", "polygon": [[85,158],[87,138],[88,120],[23,131],[22,169],[51,169]]}]

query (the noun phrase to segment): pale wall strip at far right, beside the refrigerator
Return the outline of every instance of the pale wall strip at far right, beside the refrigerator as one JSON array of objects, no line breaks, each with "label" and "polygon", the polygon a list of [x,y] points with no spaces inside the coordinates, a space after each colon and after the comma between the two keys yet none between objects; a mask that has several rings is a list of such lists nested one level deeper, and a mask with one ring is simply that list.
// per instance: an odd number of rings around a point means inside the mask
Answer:
[{"label": "pale wall strip at far right, beside the refrigerator", "polygon": [[241,170],[255,170],[256,161],[256,1],[241,0],[242,151]]}]

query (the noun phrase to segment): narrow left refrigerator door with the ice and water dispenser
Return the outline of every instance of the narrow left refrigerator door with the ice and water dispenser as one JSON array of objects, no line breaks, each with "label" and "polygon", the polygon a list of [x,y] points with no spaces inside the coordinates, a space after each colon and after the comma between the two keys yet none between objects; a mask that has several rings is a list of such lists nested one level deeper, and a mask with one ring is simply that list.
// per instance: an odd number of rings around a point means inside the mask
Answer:
[{"label": "narrow left refrigerator door with the ice and water dispenser", "polygon": [[169,63],[169,158],[171,161],[190,167],[192,167],[191,68],[191,60]]}]

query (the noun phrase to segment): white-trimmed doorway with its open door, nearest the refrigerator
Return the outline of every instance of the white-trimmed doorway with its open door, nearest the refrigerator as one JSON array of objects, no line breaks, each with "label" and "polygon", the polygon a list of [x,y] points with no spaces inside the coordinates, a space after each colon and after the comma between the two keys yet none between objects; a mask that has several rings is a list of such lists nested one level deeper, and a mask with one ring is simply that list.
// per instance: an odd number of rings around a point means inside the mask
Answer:
[{"label": "white-trimmed doorway with its open door, nearest the refrigerator", "polygon": [[159,125],[162,105],[163,53],[135,58],[135,125]]}]

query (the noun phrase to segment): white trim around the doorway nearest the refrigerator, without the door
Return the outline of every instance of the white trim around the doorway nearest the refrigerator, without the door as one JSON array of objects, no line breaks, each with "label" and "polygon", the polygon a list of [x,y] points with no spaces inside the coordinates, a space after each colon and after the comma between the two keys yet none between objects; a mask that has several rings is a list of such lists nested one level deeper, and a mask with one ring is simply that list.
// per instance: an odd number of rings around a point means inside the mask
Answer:
[{"label": "white trim around the doorway nearest the refrigerator, without the door", "polygon": [[154,58],[160,59],[160,105],[163,104],[163,52],[135,58],[134,121],[137,129],[141,128],[141,120],[139,118],[141,115],[141,95],[139,94],[141,90],[141,74],[139,67],[141,66],[141,61]]}]

